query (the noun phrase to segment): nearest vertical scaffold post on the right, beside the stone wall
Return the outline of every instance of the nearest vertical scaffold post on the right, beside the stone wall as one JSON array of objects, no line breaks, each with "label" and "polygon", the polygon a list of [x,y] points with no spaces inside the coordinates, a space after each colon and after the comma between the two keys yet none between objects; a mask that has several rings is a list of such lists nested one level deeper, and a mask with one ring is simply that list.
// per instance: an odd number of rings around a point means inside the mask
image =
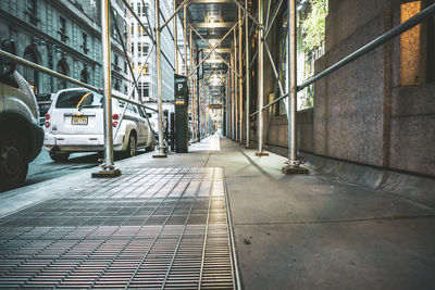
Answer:
[{"label": "nearest vertical scaffold post on the right, beside the stone wall", "polygon": [[297,89],[297,23],[296,23],[296,0],[288,0],[288,55],[287,55],[287,70],[288,70],[288,102],[287,102],[287,119],[288,119],[288,161],[287,166],[281,171],[284,174],[307,174],[308,168],[300,167],[297,161],[296,152],[296,98]]}]

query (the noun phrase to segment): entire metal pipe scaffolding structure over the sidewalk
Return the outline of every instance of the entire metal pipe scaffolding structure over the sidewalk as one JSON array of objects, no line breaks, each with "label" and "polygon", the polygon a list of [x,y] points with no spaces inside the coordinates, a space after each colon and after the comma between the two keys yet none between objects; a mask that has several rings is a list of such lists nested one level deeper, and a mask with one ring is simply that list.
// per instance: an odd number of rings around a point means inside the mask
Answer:
[{"label": "entire metal pipe scaffolding structure over the sidewalk", "polygon": [[[400,34],[407,31],[408,29],[414,27],[419,23],[423,22],[425,18],[435,14],[435,4],[431,4],[413,17],[408,21],[401,23],[400,25],[394,27],[393,29],[386,31],[381,35],[370,43],[361,47],[355,52],[350,53],[348,56],[338,61],[331,67],[324,70],[320,74],[313,76],[301,85],[297,84],[297,38],[296,38],[296,4],[297,0],[287,0],[286,7],[284,5],[284,0],[277,1],[276,5],[272,9],[271,2],[268,1],[266,13],[264,9],[264,0],[257,1],[257,11],[253,11],[253,5],[249,5],[248,1],[245,0],[244,3],[240,3],[238,0],[184,0],[179,4],[177,0],[173,2],[173,14],[164,20],[164,23],[160,25],[160,4],[159,1],[154,1],[154,18],[156,26],[153,27],[154,34],[149,31],[148,26],[150,23],[146,25],[141,18],[135,13],[129,3],[126,0],[122,0],[125,7],[129,10],[133,17],[136,18],[137,23],[140,27],[146,31],[146,34],[152,40],[151,50],[156,49],[157,51],[157,87],[158,87],[158,127],[159,127],[159,136],[156,139],[159,141],[159,152],[156,154],[156,157],[165,157],[166,154],[164,152],[163,146],[163,122],[162,122],[162,64],[161,58],[163,56],[165,61],[171,65],[172,70],[175,73],[178,72],[179,59],[178,54],[182,56],[182,61],[184,62],[184,75],[190,80],[190,91],[192,92],[190,96],[190,113],[192,117],[192,141],[200,141],[202,134],[201,127],[206,124],[207,129],[207,102],[211,102],[211,99],[207,96],[201,96],[202,93],[210,93],[211,90],[204,90],[204,86],[208,86],[208,81],[212,78],[212,75],[216,74],[217,70],[211,67],[210,75],[204,77],[204,79],[200,80],[200,75],[198,70],[200,70],[201,65],[204,64],[208,60],[210,61],[212,58],[217,58],[219,62],[222,62],[226,65],[226,73],[220,74],[220,78],[225,79],[224,88],[225,92],[223,93],[221,88],[219,89],[219,98],[223,101],[223,110],[224,110],[224,123],[225,123],[225,135],[227,137],[233,138],[240,143],[245,140],[245,144],[247,148],[250,147],[250,128],[251,123],[250,119],[252,117],[257,117],[257,144],[258,144],[258,156],[264,156],[268,153],[264,152],[264,124],[263,124],[263,112],[271,105],[274,105],[281,101],[285,101],[286,104],[286,114],[288,119],[288,162],[287,166],[283,167],[283,173],[306,173],[306,171],[300,166],[300,161],[297,156],[297,147],[296,147],[296,97],[297,92],[302,90],[303,88],[312,85],[313,83],[322,79],[323,77],[332,74],[333,72],[339,70],[346,64],[357,60],[358,58],[366,54],[368,52],[378,48],[380,46],[386,43],[393,38],[399,36]],[[237,7],[234,13],[234,21],[231,23],[222,22],[221,20],[214,23],[213,27],[220,28],[228,28],[225,34],[220,35],[220,39],[214,43],[210,43],[207,40],[208,35],[203,35],[199,27],[209,27],[207,24],[199,25],[192,21],[189,21],[190,16],[188,7],[196,4],[234,4]],[[103,52],[103,88],[97,88],[94,86],[89,86],[83,81],[76,80],[74,78],[67,77],[60,73],[57,73],[52,70],[46,68],[33,62],[26,61],[22,58],[8,53],[5,51],[0,51],[0,56],[5,58],[12,62],[18,63],[24,66],[32,67],[45,74],[51,75],[53,77],[70,81],[74,85],[85,87],[87,89],[102,92],[104,96],[104,162],[101,165],[101,171],[105,173],[112,173],[117,171],[114,162],[113,162],[113,138],[112,138],[112,125],[111,125],[111,60],[110,60],[110,15],[113,13],[111,8],[110,0],[101,0],[101,7],[103,8],[102,13],[102,52]],[[278,12],[282,10],[288,9],[287,13],[287,35],[284,42],[287,46],[287,71],[289,72],[289,81],[288,87],[285,88],[279,80],[279,70],[275,66],[275,61],[273,54],[271,53],[271,48],[266,43],[266,38],[270,36],[271,29],[275,24]],[[273,11],[272,11],[273,10]],[[254,12],[254,13],[253,13]],[[264,15],[265,14],[265,15]],[[113,16],[113,15],[112,15]],[[178,25],[177,21],[173,22],[173,39],[174,39],[174,63],[172,65],[172,60],[167,58],[167,55],[161,50],[161,31],[164,28],[167,28],[167,25],[175,17],[181,20],[183,23],[183,34],[184,34],[184,53],[178,49]],[[115,17],[113,17],[115,20]],[[182,21],[183,20],[183,21]],[[209,23],[210,24],[210,23]],[[213,23],[211,23],[213,24]],[[245,27],[244,27],[245,26]],[[115,29],[120,34],[120,27],[115,22]],[[244,29],[245,28],[245,29]],[[253,36],[257,29],[257,37]],[[233,40],[231,40],[231,35],[233,34]],[[196,36],[197,40],[194,39]],[[244,41],[245,37],[245,41]],[[198,46],[198,40],[206,42],[207,47],[200,48]],[[251,41],[256,39],[257,41],[257,51],[253,53],[251,58],[250,53],[250,45]],[[232,47],[222,48],[221,45],[224,41],[232,41]],[[245,45],[243,45],[245,42]],[[126,43],[121,40],[123,50],[125,55],[127,55]],[[243,46],[245,46],[245,50],[243,50]],[[206,52],[207,54],[200,59],[198,55],[200,52]],[[228,56],[225,56],[229,54]],[[270,61],[273,75],[274,75],[274,85],[275,90],[277,91],[277,98],[272,102],[264,104],[264,54]],[[194,55],[197,55],[196,58]],[[285,55],[279,55],[277,60],[279,63],[282,62]],[[128,59],[128,55],[127,55]],[[148,61],[148,60],[147,60]],[[257,111],[251,113],[251,89],[252,89],[252,66],[257,61]],[[244,67],[245,63],[245,67]],[[142,65],[144,67],[144,65]],[[132,64],[128,63],[128,70],[133,77],[133,87],[138,91],[138,78],[135,77],[135,72],[132,67]],[[141,72],[139,72],[139,75]],[[134,90],[132,90],[134,91]],[[126,102],[138,104],[145,109],[150,110],[149,106],[142,104],[140,102],[134,101],[132,99],[132,94],[128,99],[115,97],[122,99]],[[245,94],[245,96],[244,96]],[[245,105],[244,105],[245,104]],[[203,113],[201,114],[201,108],[203,109]],[[202,118],[200,117],[202,115]],[[122,119],[123,116],[121,116]],[[121,121],[120,121],[121,122]],[[149,122],[149,121],[148,121]],[[202,123],[202,124],[201,124]],[[245,125],[245,126],[244,126]],[[116,133],[115,133],[116,134]],[[110,174],[108,174],[110,176]]]}]

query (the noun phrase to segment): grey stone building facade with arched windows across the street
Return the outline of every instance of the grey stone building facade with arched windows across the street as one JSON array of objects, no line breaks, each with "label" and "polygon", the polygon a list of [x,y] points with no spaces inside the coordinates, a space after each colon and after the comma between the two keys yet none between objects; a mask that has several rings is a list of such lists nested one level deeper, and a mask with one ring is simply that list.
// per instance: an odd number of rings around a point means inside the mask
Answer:
[{"label": "grey stone building facade with arched windows across the street", "polygon": [[[112,87],[127,93],[129,74],[120,37],[129,47],[128,14],[122,1],[113,8],[123,36],[112,27]],[[50,70],[102,86],[101,8],[94,0],[2,0],[0,40],[14,39],[16,54]],[[17,68],[37,94],[52,93],[75,85],[32,68]]]}]

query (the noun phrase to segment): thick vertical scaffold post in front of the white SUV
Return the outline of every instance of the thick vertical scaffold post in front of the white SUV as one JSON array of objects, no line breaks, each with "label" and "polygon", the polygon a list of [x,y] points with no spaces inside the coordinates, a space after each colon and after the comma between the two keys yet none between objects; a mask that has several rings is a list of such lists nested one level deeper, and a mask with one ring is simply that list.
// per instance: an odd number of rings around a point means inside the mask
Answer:
[{"label": "thick vertical scaffold post in front of the white SUV", "polygon": [[112,85],[110,62],[110,0],[101,0],[101,43],[102,43],[102,73],[104,96],[104,162],[101,169],[92,173],[92,177],[116,177],[121,171],[113,164],[113,131],[112,131]]}]

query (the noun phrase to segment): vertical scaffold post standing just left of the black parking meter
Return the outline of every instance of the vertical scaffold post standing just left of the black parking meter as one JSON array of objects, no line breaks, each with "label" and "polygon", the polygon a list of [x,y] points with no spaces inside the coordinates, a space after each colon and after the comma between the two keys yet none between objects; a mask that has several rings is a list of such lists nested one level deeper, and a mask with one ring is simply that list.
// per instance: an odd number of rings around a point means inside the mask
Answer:
[{"label": "vertical scaffold post standing just left of the black parking meter", "polygon": [[160,3],[154,0],[156,17],[156,48],[157,48],[157,94],[158,94],[158,122],[159,122],[159,154],[153,157],[166,157],[163,146],[163,104],[162,104],[162,48],[160,39]]}]

